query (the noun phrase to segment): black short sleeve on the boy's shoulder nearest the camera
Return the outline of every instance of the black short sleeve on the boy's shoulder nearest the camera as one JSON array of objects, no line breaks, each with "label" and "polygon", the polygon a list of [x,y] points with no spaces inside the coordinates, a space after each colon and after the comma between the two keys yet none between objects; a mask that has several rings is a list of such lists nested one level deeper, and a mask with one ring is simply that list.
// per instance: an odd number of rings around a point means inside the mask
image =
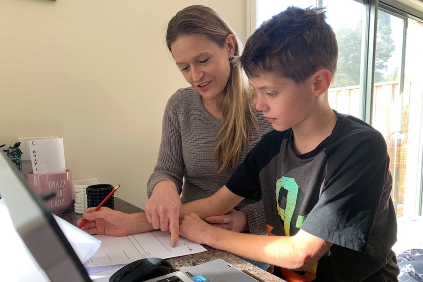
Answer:
[{"label": "black short sleeve on the boy's shoulder nearest the camera", "polygon": [[301,229],[363,252],[380,205],[388,206],[390,201],[387,147],[376,130],[353,134],[340,142],[343,145],[327,150],[323,190]]}]

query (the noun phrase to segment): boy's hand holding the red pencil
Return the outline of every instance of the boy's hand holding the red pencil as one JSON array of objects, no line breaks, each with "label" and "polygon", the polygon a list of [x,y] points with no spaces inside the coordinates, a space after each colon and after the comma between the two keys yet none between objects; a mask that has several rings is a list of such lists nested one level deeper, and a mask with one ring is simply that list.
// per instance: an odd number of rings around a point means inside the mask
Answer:
[{"label": "boy's hand holding the red pencil", "polygon": [[[80,225],[84,219],[88,222],[81,228],[88,234],[104,234],[112,236],[126,236],[130,234],[130,226],[133,224],[131,215],[108,207],[101,207],[94,211],[95,207],[87,208],[82,217],[77,221]],[[133,222],[133,223],[132,223]]]}]

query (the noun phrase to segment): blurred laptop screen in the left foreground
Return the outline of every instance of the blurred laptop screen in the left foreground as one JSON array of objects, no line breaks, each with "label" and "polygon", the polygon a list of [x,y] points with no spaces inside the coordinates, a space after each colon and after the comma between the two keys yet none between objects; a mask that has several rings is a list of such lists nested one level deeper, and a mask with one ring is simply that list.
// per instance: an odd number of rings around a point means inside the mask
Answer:
[{"label": "blurred laptop screen in the left foreground", "polygon": [[51,282],[91,282],[52,212],[3,153],[0,196],[17,233]]}]

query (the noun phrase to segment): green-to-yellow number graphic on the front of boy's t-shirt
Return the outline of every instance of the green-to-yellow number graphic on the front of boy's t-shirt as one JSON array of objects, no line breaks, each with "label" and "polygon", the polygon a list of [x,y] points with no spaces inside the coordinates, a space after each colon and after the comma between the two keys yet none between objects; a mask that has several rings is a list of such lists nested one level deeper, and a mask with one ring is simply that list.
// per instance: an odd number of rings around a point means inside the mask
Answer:
[{"label": "green-to-yellow number graphic on the front of boy's t-shirt", "polygon": [[[285,209],[279,205],[279,194],[281,189],[288,191],[287,193],[287,203]],[[285,177],[278,179],[276,181],[276,205],[278,209],[279,216],[284,221],[285,235],[290,236],[290,226],[292,221],[292,216],[294,214],[295,206],[297,205],[298,200],[298,184],[295,182],[295,179]],[[307,215],[298,215],[295,227],[300,228],[306,219]]]}]

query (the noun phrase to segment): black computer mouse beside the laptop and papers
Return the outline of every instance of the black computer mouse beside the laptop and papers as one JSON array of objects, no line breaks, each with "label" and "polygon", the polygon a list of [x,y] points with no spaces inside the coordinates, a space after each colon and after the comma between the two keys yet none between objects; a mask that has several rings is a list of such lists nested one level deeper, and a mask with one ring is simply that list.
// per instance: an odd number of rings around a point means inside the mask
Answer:
[{"label": "black computer mouse beside the laptop and papers", "polygon": [[125,265],[116,271],[109,282],[141,282],[174,272],[172,265],[158,257],[147,257]]}]

